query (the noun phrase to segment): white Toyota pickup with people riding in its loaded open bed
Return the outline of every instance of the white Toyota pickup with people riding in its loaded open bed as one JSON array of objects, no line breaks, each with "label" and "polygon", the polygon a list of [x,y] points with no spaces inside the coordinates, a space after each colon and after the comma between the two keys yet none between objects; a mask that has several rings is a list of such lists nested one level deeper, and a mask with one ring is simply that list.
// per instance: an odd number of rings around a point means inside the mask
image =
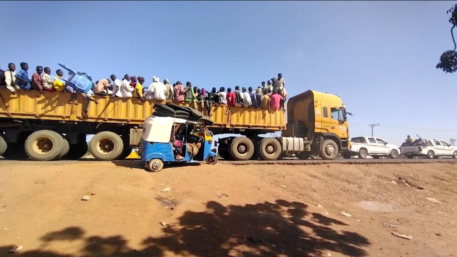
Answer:
[{"label": "white Toyota pickup with people riding in its loaded open bed", "polygon": [[426,141],[428,141],[428,144],[400,146],[400,149],[409,159],[415,156],[426,156],[429,159],[439,156],[457,158],[457,147],[449,145],[443,140],[432,139]]}]

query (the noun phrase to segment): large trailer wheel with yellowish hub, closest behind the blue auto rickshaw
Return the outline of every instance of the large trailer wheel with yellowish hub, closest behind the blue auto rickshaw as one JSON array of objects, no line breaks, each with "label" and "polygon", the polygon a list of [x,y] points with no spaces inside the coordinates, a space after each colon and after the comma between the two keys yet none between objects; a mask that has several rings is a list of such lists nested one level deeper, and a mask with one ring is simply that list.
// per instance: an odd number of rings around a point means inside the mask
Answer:
[{"label": "large trailer wheel with yellowish hub, closest behind the blue auto rickshaw", "polygon": [[97,133],[89,145],[90,153],[98,160],[113,161],[122,154],[124,143],[121,137],[111,131]]}]

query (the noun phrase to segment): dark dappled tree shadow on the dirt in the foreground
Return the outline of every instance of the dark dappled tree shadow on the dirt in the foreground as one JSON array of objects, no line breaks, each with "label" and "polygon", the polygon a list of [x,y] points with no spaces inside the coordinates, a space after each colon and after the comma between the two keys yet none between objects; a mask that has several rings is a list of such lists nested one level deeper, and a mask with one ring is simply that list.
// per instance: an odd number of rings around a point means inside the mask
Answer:
[{"label": "dark dappled tree shadow on the dirt in the foreground", "polygon": [[[370,245],[349,225],[317,213],[307,205],[277,200],[275,203],[223,206],[208,202],[202,212],[187,211],[177,222],[165,225],[163,236],[148,237],[143,247],[132,249],[122,236],[85,236],[79,227],[52,231],[40,238],[43,244],[58,240],[81,240],[76,256],[316,256],[329,251],[350,256],[366,256],[362,248]],[[0,255],[11,246],[0,246]],[[40,250],[17,252],[15,256],[64,256]]]}]

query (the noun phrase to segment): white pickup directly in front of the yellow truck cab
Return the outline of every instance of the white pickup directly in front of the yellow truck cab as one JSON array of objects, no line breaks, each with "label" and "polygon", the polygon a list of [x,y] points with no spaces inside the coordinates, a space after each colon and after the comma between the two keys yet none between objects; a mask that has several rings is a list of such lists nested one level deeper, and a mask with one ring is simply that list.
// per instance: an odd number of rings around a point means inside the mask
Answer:
[{"label": "white pickup directly in front of the yellow truck cab", "polygon": [[389,156],[395,159],[399,156],[400,149],[396,145],[388,144],[383,139],[375,137],[356,137],[351,139],[350,148],[344,152],[343,158],[349,159],[353,155],[365,159],[371,155],[374,159],[381,156]]}]

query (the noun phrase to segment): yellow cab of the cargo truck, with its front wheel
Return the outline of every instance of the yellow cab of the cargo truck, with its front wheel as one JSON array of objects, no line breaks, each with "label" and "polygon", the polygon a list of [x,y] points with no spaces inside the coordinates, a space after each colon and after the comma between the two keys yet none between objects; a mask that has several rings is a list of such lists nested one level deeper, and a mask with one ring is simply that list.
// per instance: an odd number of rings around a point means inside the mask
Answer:
[{"label": "yellow cab of the cargo truck, with its front wheel", "polygon": [[300,159],[311,154],[334,159],[350,144],[345,105],[339,96],[313,90],[293,96],[287,103],[283,135],[303,138],[303,152],[296,154]]}]

